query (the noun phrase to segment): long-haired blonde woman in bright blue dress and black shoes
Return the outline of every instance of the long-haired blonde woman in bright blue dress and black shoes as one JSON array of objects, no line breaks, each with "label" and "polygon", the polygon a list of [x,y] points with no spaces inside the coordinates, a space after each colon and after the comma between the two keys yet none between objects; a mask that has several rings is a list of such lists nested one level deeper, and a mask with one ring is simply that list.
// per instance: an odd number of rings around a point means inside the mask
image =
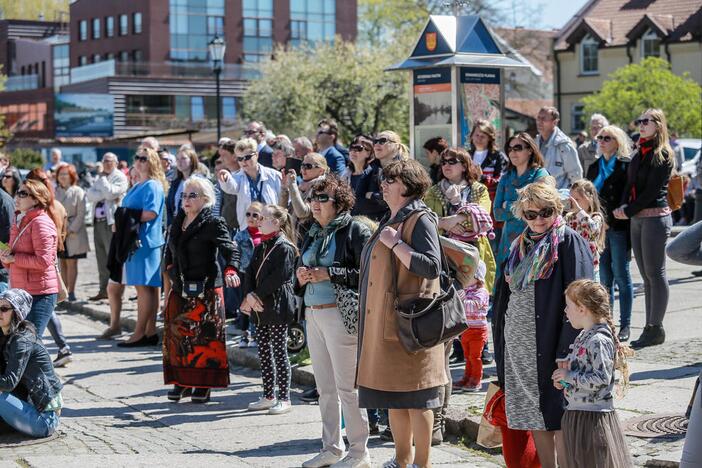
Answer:
[{"label": "long-haired blonde woman in bright blue dress and black shoes", "polygon": [[134,333],[122,347],[158,344],[156,313],[161,287],[161,248],[163,211],[168,183],[156,151],[141,148],[134,156],[136,184],[122,200],[122,206],[141,210],[139,241],[141,245],[124,264],[125,284],[137,290],[137,323]]}]

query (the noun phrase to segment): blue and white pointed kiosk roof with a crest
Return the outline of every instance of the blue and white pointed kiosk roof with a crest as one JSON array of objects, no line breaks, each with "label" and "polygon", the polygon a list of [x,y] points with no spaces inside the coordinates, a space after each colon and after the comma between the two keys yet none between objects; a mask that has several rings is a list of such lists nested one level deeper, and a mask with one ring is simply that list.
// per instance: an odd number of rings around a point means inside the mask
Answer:
[{"label": "blue and white pointed kiosk roof with a crest", "polygon": [[412,54],[389,70],[487,63],[500,68],[528,66],[506,54],[479,16],[432,15]]}]

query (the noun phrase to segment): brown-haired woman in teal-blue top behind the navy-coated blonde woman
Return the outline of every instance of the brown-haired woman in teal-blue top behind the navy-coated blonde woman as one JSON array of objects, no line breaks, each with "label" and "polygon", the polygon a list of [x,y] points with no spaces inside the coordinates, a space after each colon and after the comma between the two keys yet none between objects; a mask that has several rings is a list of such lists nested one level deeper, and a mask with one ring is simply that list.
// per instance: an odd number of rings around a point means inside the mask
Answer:
[{"label": "brown-haired woman in teal-blue top behind the navy-coated blonde woman", "polygon": [[544,169],[544,157],[528,133],[520,132],[510,138],[505,145],[505,153],[509,157],[509,164],[497,184],[493,205],[495,220],[504,223],[500,243],[495,252],[497,281],[502,272],[502,263],[509,253],[509,246],[526,226],[524,221],[512,212],[512,205],[518,198],[517,190],[548,175],[548,171]]}]

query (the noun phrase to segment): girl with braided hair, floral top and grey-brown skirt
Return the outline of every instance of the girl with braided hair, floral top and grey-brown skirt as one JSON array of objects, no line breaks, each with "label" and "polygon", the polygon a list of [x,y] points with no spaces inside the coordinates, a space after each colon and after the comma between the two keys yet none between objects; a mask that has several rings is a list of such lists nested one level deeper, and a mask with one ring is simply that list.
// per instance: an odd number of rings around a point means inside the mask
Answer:
[{"label": "girl with braided hair, floral top and grey-brown skirt", "polygon": [[572,282],[565,296],[568,320],[583,330],[551,376],[567,402],[561,420],[565,459],[575,467],[632,466],[614,411],[614,374],[619,369],[626,386],[626,357],[632,353],[617,338],[609,293],[600,283],[582,279]]}]

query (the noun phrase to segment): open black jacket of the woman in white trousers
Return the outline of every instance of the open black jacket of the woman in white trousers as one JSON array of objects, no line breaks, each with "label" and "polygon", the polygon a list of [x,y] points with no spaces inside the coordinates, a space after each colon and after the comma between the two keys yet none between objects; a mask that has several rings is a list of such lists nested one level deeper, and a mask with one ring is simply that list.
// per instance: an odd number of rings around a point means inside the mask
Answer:
[{"label": "open black jacket of the woman in white trousers", "polygon": [[[348,289],[358,291],[358,276],[361,268],[361,252],[370,239],[371,230],[362,222],[352,219],[349,224],[339,228],[334,233],[334,262],[329,267],[329,280]],[[312,244],[313,238],[306,236],[302,244],[301,252],[305,252]],[[302,255],[297,260],[295,269],[303,266]],[[295,293],[305,296],[307,285],[300,286],[295,278]],[[303,304],[304,307],[304,304]],[[303,308],[304,310],[304,308]]]}]

